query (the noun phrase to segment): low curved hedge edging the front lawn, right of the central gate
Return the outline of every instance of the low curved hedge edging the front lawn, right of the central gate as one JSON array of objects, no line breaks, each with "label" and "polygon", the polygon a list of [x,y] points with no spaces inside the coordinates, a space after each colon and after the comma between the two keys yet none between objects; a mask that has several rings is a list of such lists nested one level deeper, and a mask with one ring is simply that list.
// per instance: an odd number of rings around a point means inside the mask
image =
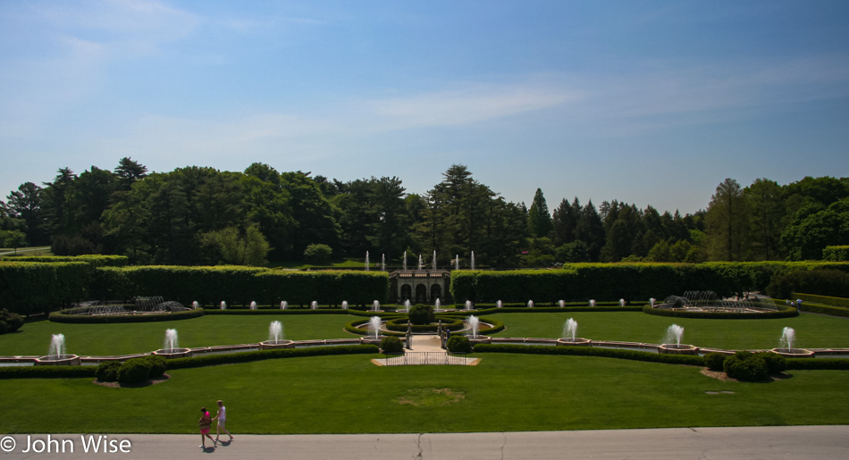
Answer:
[{"label": "low curved hedge edging the front lawn, right of the central gate", "polygon": [[544,345],[478,344],[475,353],[520,353],[525,355],[576,355],[603,356],[651,363],[704,365],[704,358],[697,355],[660,355],[647,351],[621,350],[597,347],[548,347]]}]

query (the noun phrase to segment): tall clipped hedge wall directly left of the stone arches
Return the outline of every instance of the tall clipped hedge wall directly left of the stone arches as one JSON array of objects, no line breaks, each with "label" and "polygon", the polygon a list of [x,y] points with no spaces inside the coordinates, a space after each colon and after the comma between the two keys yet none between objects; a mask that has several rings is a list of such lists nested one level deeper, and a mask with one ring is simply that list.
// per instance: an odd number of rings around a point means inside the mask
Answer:
[{"label": "tall clipped hedge wall directly left of the stone arches", "polygon": [[381,303],[389,297],[386,272],[283,272],[261,267],[185,267],[146,265],[97,270],[94,293],[102,299],[129,299],[134,296],[162,296],[183,305],[262,305]]}]

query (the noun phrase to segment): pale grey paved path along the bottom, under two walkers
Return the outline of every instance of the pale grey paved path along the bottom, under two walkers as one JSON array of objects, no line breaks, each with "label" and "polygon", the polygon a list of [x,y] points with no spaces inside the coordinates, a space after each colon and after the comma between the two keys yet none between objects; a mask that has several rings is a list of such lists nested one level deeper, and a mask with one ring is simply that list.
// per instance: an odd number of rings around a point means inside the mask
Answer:
[{"label": "pale grey paved path along the bottom, under two walkers", "polygon": [[[673,428],[664,430],[524,431],[492,433],[240,435],[232,443],[198,448],[198,435],[110,434],[108,442],[129,442],[129,453],[84,452],[80,435],[56,435],[65,452],[21,453],[27,436],[15,435],[11,452],[0,459],[31,458],[285,458],[299,459],[844,459],[849,456],[849,426]],[[33,435],[31,440],[46,440]],[[73,452],[69,447],[73,445]],[[44,448],[43,444],[33,446]],[[110,444],[113,445],[113,444]],[[127,444],[125,443],[126,447]],[[9,447],[6,438],[0,447]]]}]

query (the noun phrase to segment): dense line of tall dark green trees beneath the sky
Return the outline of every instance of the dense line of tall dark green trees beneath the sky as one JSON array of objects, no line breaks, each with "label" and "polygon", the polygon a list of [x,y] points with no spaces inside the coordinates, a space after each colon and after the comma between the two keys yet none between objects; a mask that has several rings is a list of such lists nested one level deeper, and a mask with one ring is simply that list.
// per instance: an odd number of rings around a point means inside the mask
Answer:
[{"label": "dense line of tall dark green trees beneath the sky", "polygon": [[[317,254],[391,264],[436,252],[438,266],[574,262],[818,259],[849,241],[849,178],[719,184],[706,210],[660,213],[618,200],[598,207],[542,189],[530,208],[452,165],[424,194],[398,177],[342,182],[253,163],[245,171],[189,166],[148,173],[122,158],[113,171],[59,169],[0,201],[0,247],[51,246],[56,255],[127,255],[131,263],[262,265]],[[413,263],[411,261],[411,263]],[[417,261],[416,261],[417,263]]]}]

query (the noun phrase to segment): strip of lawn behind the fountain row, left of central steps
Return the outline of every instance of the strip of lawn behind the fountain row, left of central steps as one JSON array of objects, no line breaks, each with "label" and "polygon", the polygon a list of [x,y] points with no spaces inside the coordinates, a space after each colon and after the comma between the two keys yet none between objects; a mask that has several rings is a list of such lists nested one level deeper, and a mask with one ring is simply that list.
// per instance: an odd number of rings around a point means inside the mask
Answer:
[{"label": "strip of lawn behind the fountain row, left of central steps", "polygon": [[167,329],[177,330],[181,347],[256,343],[268,339],[268,326],[273,321],[282,322],[285,338],[290,340],[354,338],[357,336],[342,328],[357,318],[347,314],[233,314],[172,322],[29,322],[16,333],[0,335],[0,355],[46,355],[50,336],[60,333],[65,336],[67,352],[74,355],[147,353],[164,347]]}]

